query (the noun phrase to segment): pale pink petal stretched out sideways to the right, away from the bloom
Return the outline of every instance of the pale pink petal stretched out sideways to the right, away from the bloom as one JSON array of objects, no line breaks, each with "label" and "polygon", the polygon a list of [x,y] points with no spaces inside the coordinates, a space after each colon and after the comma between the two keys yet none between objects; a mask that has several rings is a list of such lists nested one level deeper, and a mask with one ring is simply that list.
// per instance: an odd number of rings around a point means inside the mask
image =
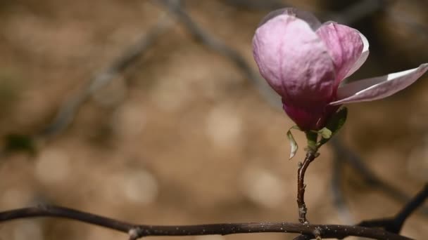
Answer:
[{"label": "pale pink petal stretched out sideways to the right, away from the bloom", "polygon": [[330,105],[341,105],[349,102],[365,102],[386,98],[403,90],[428,70],[428,63],[417,68],[396,72],[385,76],[355,81],[341,86],[337,91],[338,101]]}]

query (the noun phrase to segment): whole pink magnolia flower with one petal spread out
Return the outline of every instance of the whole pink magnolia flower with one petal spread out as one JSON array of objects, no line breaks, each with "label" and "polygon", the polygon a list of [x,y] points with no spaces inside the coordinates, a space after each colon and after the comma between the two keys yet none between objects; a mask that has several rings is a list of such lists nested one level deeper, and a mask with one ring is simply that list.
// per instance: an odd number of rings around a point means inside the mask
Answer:
[{"label": "whole pink magnolia flower with one petal spread out", "polygon": [[323,128],[344,103],[386,98],[428,70],[425,63],[341,86],[363,65],[368,48],[358,30],[336,22],[321,24],[294,8],[267,15],[253,38],[260,74],[281,95],[284,111],[303,131]]}]

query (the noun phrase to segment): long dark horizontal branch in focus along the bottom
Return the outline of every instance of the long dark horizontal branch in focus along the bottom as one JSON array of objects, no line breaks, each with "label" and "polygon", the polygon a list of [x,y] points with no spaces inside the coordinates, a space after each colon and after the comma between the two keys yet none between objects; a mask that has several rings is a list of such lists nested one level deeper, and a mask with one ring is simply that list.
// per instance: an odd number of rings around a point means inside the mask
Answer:
[{"label": "long dark horizontal branch in focus along the bottom", "polygon": [[248,234],[256,232],[282,232],[298,233],[310,237],[342,239],[346,236],[363,236],[381,240],[409,240],[383,229],[368,228],[347,225],[310,225],[290,222],[242,222],[209,225],[136,225],[130,222],[122,222],[113,218],[106,218],[92,213],[77,211],[72,208],[60,206],[37,206],[32,208],[19,208],[11,211],[0,212],[0,222],[6,222],[21,218],[56,217],[86,222],[92,225],[114,229],[130,235],[130,239],[138,239],[143,236],[190,236],[210,234]]}]

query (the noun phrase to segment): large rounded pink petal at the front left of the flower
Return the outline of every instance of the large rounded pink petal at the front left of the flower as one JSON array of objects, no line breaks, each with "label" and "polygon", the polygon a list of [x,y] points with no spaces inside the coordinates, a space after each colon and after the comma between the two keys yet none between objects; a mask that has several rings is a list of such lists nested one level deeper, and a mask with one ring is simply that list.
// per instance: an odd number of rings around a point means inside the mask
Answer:
[{"label": "large rounded pink petal at the front left of the flower", "polygon": [[286,14],[268,20],[256,30],[253,55],[260,74],[289,104],[326,104],[332,98],[332,59],[305,21]]}]

